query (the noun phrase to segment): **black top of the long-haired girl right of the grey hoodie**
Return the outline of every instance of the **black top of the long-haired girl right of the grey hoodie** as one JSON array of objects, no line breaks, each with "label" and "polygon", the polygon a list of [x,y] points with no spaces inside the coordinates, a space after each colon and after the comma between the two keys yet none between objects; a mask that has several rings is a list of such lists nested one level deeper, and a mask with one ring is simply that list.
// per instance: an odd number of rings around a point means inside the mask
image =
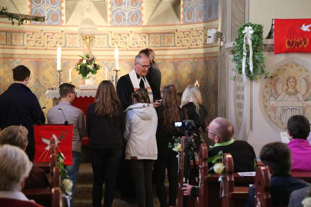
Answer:
[{"label": "black top of the long-haired girl right of the grey hoodie", "polygon": [[[156,142],[168,144],[169,142],[172,141],[173,136],[182,136],[183,133],[181,129],[164,125],[162,110],[163,110],[163,106],[158,106],[155,108],[157,118],[158,118],[158,124],[157,124],[156,134],[155,134]],[[178,108],[178,114],[179,114],[179,120],[175,120],[175,122],[183,121],[184,120],[183,110]]]}]

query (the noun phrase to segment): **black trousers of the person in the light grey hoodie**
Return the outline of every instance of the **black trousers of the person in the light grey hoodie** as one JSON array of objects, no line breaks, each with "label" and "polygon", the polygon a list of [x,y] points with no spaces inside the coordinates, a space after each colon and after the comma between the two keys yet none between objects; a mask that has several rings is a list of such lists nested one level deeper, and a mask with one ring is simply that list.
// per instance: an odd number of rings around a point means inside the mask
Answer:
[{"label": "black trousers of the person in the light grey hoodie", "polygon": [[135,182],[138,207],[153,207],[154,193],[152,189],[152,170],[155,160],[130,160],[130,166]]}]

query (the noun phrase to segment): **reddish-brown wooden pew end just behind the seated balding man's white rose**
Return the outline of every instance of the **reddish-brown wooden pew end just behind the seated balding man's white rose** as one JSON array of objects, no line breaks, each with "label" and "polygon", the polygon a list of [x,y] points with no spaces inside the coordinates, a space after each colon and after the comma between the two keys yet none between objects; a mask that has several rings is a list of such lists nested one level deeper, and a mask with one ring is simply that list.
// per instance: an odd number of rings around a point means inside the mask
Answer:
[{"label": "reddish-brown wooden pew end just behind the seated balding man's white rose", "polygon": [[229,153],[224,154],[225,165],[225,194],[222,198],[223,207],[243,207],[248,199],[248,187],[234,186],[234,164]]}]

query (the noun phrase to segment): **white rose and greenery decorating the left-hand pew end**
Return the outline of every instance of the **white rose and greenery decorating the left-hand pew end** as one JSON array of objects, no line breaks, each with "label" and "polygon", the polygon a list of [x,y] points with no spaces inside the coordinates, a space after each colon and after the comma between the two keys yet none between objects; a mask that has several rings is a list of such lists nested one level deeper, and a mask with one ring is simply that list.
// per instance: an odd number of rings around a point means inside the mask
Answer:
[{"label": "white rose and greenery decorating the left-hand pew end", "polygon": [[64,160],[65,160],[65,157],[63,153],[59,152],[56,154],[56,161],[57,161],[56,167],[60,168],[60,174],[61,174],[61,186],[60,186],[61,191],[63,193],[67,193],[68,195],[71,195],[73,183],[67,174],[67,170],[65,169]]}]

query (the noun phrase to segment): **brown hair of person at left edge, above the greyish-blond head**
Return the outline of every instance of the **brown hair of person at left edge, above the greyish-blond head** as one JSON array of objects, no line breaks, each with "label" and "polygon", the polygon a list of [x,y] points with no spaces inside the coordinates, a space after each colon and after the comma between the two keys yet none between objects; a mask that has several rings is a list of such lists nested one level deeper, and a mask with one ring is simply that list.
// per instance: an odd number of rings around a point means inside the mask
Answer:
[{"label": "brown hair of person at left edge, above the greyish-blond head", "polygon": [[11,144],[25,149],[28,144],[28,130],[23,126],[10,126],[0,131],[0,145]]}]

